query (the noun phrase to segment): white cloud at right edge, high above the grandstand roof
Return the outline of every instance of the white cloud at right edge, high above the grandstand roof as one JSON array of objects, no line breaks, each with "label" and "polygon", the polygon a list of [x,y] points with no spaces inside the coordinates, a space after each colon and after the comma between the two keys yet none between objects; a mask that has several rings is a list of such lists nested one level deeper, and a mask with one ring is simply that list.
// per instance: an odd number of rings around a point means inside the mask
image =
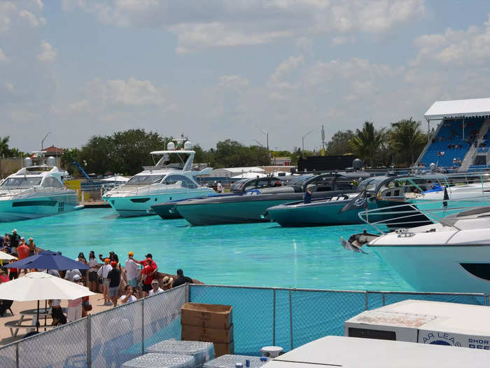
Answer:
[{"label": "white cloud at right edge, high above the grandstand roof", "polygon": [[444,34],[426,34],[414,40],[419,53],[412,65],[435,62],[449,66],[488,64],[490,60],[490,13],[484,27],[448,28]]}]

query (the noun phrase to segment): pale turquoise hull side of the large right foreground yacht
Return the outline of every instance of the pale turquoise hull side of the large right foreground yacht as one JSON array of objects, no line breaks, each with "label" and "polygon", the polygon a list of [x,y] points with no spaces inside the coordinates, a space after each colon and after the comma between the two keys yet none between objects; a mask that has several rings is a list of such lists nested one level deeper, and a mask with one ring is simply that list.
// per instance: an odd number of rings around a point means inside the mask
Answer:
[{"label": "pale turquoise hull side of the large right foreground yacht", "polygon": [[486,245],[398,245],[368,248],[418,292],[490,292],[490,280],[478,277],[462,266],[470,264],[488,269],[490,241]]}]

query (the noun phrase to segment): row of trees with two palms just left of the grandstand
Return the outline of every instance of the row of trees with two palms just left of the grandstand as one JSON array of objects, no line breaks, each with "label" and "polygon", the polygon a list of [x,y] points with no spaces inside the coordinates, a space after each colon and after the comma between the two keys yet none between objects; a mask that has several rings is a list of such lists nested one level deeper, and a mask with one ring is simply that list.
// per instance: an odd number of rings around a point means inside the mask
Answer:
[{"label": "row of trees with two palms just left of the grandstand", "polygon": [[365,166],[412,166],[427,143],[420,121],[412,118],[391,123],[390,128],[374,128],[366,121],[362,129],[339,130],[325,148],[326,155],[354,154]]}]

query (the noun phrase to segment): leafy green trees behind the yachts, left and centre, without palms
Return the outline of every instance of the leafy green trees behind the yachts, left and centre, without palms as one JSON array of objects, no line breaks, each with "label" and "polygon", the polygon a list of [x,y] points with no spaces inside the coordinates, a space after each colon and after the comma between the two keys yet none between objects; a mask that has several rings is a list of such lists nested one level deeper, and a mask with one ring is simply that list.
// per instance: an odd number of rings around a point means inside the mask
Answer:
[{"label": "leafy green trees behind the yachts, left and centre, without palms", "polygon": [[[80,172],[73,166],[77,161],[87,173],[105,175],[109,172],[121,175],[134,175],[141,172],[142,166],[154,165],[151,151],[167,149],[167,143],[173,137],[165,137],[158,132],[146,132],[144,129],[131,129],[115,132],[113,135],[94,136],[81,149],[66,149],[62,156],[62,165],[73,176]],[[237,166],[269,165],[267,149],[262,146],[244,146],[227,139],[218,142],[216,148],[202,149],[199,144],[193,146],[196,152],[195,163],[208,163],[212,168],[230,168]],[[177,162],[171,155],[172,162]]]}]

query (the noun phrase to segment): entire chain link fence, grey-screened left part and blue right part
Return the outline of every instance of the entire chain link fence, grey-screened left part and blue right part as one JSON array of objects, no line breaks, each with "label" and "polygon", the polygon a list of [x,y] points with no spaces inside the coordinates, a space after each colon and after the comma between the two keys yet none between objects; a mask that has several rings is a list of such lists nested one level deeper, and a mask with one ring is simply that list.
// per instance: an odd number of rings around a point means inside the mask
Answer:
[{"label": "entire chain link fence, grey-screened left part and blue right part", "polygon": [[233,306],[235,354],[263,346],[285,351],[327,335],[344,335],[344,321],[407,299],[488,305],[485,294],[363,292],[183,285],[89,315],[0,348],[1,367],[120,367],[148,346],[181,338],[186,301]]}]

